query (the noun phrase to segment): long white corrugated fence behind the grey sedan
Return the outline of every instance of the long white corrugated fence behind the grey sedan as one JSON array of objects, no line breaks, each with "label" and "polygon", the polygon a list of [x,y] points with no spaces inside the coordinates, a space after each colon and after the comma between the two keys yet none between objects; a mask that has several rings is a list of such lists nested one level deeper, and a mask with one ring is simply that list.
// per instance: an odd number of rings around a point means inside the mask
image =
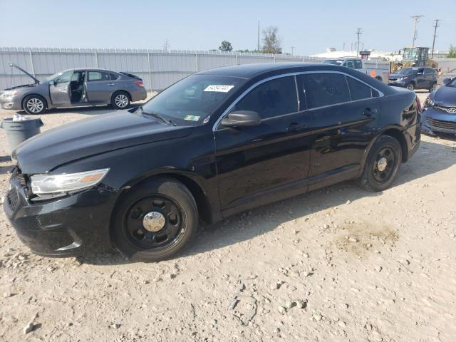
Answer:
[{"label": "long white corrugated fence behind the grey sedan", "polygon": [[321,58],[224,53],[217,51],[161,51],[90,48],[1,48],[0,89],[31,83],[15,63],[38,80],[70,68],[105,68],[142,78],[147,90],[162,90],[197,71],[247,63],[318,62]]}]

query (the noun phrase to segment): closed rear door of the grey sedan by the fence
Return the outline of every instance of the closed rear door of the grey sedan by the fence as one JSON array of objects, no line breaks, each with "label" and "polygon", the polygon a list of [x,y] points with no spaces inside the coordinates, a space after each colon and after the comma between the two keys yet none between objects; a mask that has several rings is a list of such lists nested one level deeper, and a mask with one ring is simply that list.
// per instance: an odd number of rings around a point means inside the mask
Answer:
[{"label": "closed rear door of the grey sedan by the fence", "polygon": [[90,103],[110,103],[115,82],[110,80],[107,71],[88,71],[87,98]]}]

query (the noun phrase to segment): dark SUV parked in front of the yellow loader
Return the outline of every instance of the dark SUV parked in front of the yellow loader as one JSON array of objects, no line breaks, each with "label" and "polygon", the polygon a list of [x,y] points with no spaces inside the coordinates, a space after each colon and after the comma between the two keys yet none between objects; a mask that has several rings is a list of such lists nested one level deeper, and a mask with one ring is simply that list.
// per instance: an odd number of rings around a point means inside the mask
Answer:
[{"label": "dark SUV parked in front of the yellow loader", "polygon": [[437,88],[437,71],[432,68],[402,68],[390,75],[388,84],[408,90],[427,89],[432,92]]}]

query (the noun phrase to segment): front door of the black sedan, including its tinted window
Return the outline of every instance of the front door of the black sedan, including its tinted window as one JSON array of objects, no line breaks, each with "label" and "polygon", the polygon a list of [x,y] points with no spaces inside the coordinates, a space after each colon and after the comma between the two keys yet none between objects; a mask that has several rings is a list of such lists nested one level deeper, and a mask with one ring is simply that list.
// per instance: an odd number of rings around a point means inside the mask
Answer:
[{"label": "front door of the black sedan, including its tinted window", "polygon": [[214,130],[222,211],[229,213],[305,192],[308,115],[299,112],[294,76],[251,90],[232,110],[253,110],[261,124]]}]

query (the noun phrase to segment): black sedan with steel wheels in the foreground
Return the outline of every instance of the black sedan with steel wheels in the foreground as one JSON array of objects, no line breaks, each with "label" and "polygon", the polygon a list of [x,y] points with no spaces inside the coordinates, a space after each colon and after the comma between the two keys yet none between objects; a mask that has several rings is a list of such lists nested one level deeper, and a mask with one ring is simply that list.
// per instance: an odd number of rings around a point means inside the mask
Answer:
[{"label": "black sedan with steel wheels in the foreground", "polygon": [[213,223],[345,180],[393,184],[420,143],[415,93],[340,66],[203,71],[139,108],[31,138],[13,153],[4,210],[46,256],[112,244],[174,256]]}]

